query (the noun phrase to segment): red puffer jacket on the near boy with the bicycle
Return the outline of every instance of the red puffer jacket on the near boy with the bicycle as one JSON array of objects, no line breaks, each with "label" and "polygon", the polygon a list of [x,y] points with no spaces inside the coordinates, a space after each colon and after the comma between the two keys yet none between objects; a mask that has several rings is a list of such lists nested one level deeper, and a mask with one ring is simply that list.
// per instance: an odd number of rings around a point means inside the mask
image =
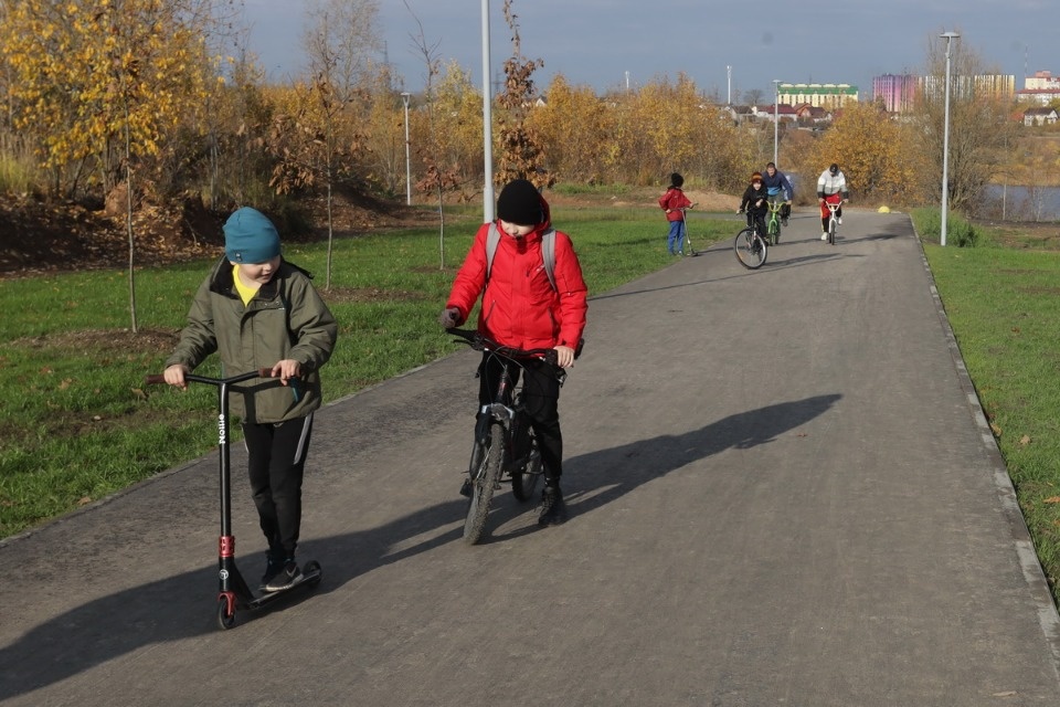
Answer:
[{"label": "red puffer jacket on the near boy with the bicycle", "polygon": [[[541,255],[541,234],[550,226],[548,204],[545,221],[522,239],[513,239],[501,230],[494,254],[494,265],[486,282],[486,234],[483,224],[475,243],[456,274],[446,307],[460,310],[460,321],[483,294],[478,330],[506,346],[521,349],[576,348],[585,329],[586,287],[582,267],[571,239],[555,234],[555,287],[549,283]],[[500,222],[497,223],[500,228]]]}]

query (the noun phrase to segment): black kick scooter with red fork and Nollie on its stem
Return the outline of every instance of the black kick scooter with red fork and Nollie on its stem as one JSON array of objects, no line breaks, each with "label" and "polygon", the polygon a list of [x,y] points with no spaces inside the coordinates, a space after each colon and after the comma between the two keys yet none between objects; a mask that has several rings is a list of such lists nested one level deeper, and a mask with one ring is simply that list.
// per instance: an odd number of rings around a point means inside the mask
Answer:
[{"label": "black kick scooter with red fork and Nollie on its stem", "polygon": [[[206,378],[186,373],[184,380],[195,383],[206,383],[218,389],[218,451],[221,457],[221,540],[219,542],[218,577],[220,591],[218,593],[218,626],[222,630],[235,625],[236,609],[261,609],[280,597],[297,589],[316,587],[320,583],[322,570],[316,560],[307,562],[301,569],[301,579],[290,587],[276,592],[265,592],[254,595],[246,581],[235,566],[235,537],[232,535],[232,468],[229,454],[229,386],[241,383],[252,378],[272,378],[272,369],[263,368],[233,376],[232,378]],[[165,383],[162,376],[148,376],[147,384]]]}]

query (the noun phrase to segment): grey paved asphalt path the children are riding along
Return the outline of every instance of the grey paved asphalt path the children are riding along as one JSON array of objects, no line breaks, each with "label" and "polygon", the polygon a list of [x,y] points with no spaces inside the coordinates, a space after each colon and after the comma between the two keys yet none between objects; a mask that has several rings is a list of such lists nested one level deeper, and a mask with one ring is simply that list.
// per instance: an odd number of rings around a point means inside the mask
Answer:
[{"label": "grey paved asphalt path the children are riding along", "polygon": [[909,218],[817,225],[757,272],[722,243],[592,299],[566,525],[506,490],[462,541],[457,351],[318,414],[324,581],[231,631],[213,456],[3,542],[0,704],[1060,704],[1060,621]]}]

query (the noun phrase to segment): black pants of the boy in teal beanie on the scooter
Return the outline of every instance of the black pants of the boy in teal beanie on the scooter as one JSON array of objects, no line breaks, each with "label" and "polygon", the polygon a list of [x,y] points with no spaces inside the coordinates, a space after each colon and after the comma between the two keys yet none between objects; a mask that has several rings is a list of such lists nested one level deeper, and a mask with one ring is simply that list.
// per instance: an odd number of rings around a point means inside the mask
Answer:
[{"label": "black pants of the boy in teal beanie on the scooter", "polygon": [[301,479],[309,453],[312,413],[276,424],[243,423],[251,493],[268,551],[295,557],[301,527]]}]

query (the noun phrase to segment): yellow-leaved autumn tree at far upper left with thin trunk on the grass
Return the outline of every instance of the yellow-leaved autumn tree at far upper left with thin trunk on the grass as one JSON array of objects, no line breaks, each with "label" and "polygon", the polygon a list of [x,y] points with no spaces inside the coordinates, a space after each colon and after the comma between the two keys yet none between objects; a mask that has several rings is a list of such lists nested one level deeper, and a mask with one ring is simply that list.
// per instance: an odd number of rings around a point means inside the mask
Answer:
[{"label": "yellow-leaved autumn tree at far upper left with thin trunk on the grass", "polygon": [[[129,309],[137,330],[132,231],[136,166],[161,149],[187,103],[203,95],[210,62],[194,2],[23,0],[3,14],[14,73],[15,127],[36,136],[56,192],[82,180],[110,193],[124,180]],[[73,170],[67,167],[73,166]]]}]

